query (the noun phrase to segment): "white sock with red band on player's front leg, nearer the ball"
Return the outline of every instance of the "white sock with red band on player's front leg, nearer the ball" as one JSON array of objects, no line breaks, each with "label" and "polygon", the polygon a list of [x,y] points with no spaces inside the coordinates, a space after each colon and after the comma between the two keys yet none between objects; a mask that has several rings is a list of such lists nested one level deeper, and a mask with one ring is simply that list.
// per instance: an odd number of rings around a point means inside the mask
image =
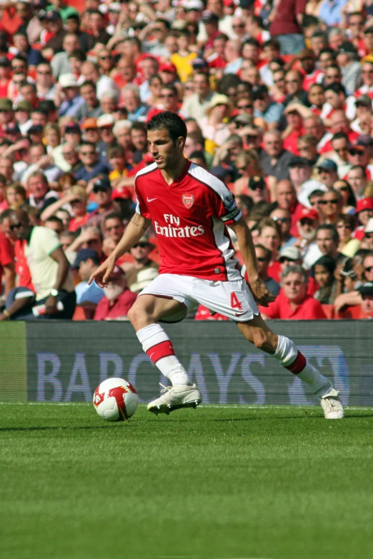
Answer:
[{"label": "white sock with red band on player's front leg, nearer the ball", "polygon": [[159,324],[150,324],[136,332],[145,353],[172,384],[191,385],[188,374],[175,356],[171,340]]}]

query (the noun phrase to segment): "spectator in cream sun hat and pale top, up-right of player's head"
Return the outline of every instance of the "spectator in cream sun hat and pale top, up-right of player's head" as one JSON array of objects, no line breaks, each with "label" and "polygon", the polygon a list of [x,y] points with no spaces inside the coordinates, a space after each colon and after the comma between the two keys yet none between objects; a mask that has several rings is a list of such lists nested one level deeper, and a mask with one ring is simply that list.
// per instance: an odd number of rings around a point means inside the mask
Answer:
[{"label": "spectator in cream sun hat and pale top, up-right of player's head", "polygon": [[226,95],[217,94],[210,101],[206,115],[199,120],[199,127],[204,131],[205,148],[214,154],[215,148],[222,146],[229,136],[225,119],[232,116],[233,106]]}]

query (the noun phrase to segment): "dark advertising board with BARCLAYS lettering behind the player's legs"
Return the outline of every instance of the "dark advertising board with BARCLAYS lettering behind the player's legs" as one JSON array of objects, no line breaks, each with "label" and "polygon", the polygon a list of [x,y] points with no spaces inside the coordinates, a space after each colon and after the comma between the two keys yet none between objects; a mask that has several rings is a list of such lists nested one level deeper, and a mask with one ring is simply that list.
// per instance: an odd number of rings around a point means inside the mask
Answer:
[{"label": "dark advertising board with BARCLAYS lettering behind the player's legs", "polygon": [[[345,405],[373,406],[372,322],[272,321],[271,326],[332,379]],[[315,403],[299,378],[245,341],[234,323],[184,321],[165,330],[204,403]],[[100,381],[121,376],[146,402],[159,394],[159,382],[166,382],[129,323],[27,323],[26,363],[29,401],[91,401]]]}]

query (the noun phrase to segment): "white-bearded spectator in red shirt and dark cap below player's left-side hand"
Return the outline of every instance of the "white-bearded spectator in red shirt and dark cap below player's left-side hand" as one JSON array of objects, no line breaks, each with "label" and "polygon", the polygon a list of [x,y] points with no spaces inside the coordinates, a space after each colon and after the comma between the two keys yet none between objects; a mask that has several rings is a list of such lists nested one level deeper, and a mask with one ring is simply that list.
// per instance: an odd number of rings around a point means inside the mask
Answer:
[{"label": "white-bearded spectator in red shirt and dark cap below player's left-side hand", "polygon": [[124,321],[127,313],[136,301],[136,293],[131,293],[127,287],[124,271],[115,266],[107,278],[107,286],[104,287],[104,297],[96,307],[94,313],[95,321]]}]

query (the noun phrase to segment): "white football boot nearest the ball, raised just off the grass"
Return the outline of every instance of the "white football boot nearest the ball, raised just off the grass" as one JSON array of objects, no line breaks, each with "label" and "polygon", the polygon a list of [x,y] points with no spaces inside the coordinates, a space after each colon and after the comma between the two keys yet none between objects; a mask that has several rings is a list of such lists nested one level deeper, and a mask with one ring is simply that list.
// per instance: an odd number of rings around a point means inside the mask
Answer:
[{"label": "white football boot nearest the ball, raised just off the grass", "polygon": [[174,386],[163,386],[161,396],[148,404],[148,411],[155,413],[166,413],[181,408],[197,408],[202,402],[202,394],[197,386],[187,386],[185,384],[175,384]]}]

